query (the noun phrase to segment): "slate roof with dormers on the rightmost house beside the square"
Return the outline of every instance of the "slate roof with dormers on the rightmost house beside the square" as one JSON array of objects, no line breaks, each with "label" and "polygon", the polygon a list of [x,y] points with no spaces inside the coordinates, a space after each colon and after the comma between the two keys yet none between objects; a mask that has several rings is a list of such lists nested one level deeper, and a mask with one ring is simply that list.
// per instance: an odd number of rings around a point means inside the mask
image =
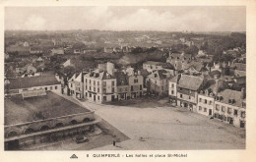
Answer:
[{"label": "slate roof with dormers on the rightmost house beside the square", "polygon": [[218,96],[223,96],[223,99],[221,102],[224,102],[226,104],[231,104],[228,102],[229,99],[234,99],[234,103],[231,105],[235,105],[238,107],[241,107],[243,98],[241,97],[242,92],[241,91],[236,91],[236,90],[231,90],[231,89],[224,89],[224,91],[221,91]]}]

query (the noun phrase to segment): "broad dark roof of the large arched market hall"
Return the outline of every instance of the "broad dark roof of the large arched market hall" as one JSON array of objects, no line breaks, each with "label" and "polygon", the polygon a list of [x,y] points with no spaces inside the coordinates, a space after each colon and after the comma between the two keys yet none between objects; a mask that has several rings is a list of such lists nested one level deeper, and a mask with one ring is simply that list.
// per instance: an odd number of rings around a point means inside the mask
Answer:
[{"label": "broad dark roof of the large arched market hall", "polygon": [[5,125],[89,112],[88,109],[50,91],[47,92],[47,95],[24,100],[22,95],[15,95],[5,99],[4,103]]}]

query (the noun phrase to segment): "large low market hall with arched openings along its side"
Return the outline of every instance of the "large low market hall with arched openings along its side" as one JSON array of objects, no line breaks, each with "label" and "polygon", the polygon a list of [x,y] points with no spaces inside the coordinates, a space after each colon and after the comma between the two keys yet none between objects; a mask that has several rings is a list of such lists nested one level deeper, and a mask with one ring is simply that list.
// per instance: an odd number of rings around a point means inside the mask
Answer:
[{"label": "large low market hall with arched openings along its side", "polygon": [[26,98],[13,95],[4,105],[5,150],[86,135],[99,122],[95,112],[51,91]]}]

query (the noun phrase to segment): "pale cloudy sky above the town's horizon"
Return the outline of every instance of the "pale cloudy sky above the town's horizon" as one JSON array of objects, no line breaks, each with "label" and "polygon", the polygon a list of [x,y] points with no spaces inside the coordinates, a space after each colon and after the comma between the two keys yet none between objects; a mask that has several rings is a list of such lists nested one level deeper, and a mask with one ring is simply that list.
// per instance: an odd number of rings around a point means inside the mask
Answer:
[{"label": "pale cloudy sky above the town's horizon", "polygon": [[245,7],[6,7],[5,29],[246,31]]}]

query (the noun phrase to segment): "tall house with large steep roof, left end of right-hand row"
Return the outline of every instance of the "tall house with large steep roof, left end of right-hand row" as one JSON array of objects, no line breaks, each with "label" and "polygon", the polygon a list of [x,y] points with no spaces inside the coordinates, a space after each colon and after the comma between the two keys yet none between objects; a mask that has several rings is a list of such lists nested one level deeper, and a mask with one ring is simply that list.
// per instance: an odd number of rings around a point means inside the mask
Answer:
[{"label": "tall house with large steep roof, left end of right-hand row", "polygon": [[198,92],[204,85],[201,77],[182,75],[177,84],[177,105],[196,111]]}]

